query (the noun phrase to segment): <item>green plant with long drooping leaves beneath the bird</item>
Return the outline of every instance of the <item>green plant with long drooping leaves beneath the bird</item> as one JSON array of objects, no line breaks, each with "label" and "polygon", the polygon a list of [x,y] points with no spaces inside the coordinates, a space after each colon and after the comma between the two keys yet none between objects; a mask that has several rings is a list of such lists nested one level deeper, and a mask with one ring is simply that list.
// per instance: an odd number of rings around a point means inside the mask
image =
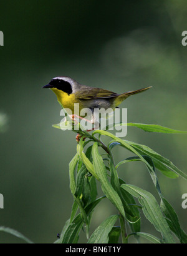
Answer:
[{"label": "green plant with long drooping leaves beneath the bird", "polygon": [[[160,125],[140,123],[118,123],[113,126],[118,125],[135,126],[144,131],[157,133],[186,133],[186,131],[173,130]],[[54,125],[54,127],[60,128],[60,125]],[[118,243],[120,235],[123,243],[128,243],[132,235],[137,239],[144,237],[153,243],[175,243],[173,234],[180,243],[186,243],[187,235],[180,227],[178,216],[161,193],[155,168],[170,178],[181,176],[186,179],[187,175],[181,172],[170,160],[148,146],[122,140],[109,133],[107,131],[109,128],[111,125],[104,130],[95,130],[93,133],[89,133],[79,126],[80,141],[77,144],[77,153],[69,164],[70,190],[74,197],[74,205],[70,218],[65,223],[60,238],[55,243],[77,243],[80,230],[85,231],[88,243]],[[101,140],[102,136],[110,138],[107,145]],[[132,152],[133,156],[125,158],[115,165],[112,153],[115,146],[122,146],[122,148]],[[102,148],[104,154],[99,153],[99,148]],[[160,196],[160,204],[150,192],[135,185],[126,184],[118,177],[118,166],[132,161],[141,161],[145,164],[156,192]],[[103,197],[100,198],[97,198],[96,180],[103,191]],[[89,235],[93,211],[104,198],[110,200],[118,214],[107,217]],[[140,204],[137,205],[135,198],[138,198]],[[149,233],[141,232],[140,212],[161,233],[161,239]],[[115,226],[117,220],[120,222],[120,227]],[[130,227],[130,233],[127,233],[127,225]]]}]

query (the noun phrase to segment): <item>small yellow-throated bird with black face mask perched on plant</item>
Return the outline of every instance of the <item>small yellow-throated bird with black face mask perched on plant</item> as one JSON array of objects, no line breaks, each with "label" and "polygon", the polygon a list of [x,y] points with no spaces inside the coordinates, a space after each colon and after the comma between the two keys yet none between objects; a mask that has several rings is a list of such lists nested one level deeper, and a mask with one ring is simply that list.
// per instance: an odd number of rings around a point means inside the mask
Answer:
[{"label": "small yellow-throated bird with black face mask perched on plant", "polygon": [[[127,91],[126,93],[114,93],[101,88],[94,88],[82,85],[68,76],[57,76],[52,78],[49,84],[42,88],[50,88],[57,96],[57,100],[62,104],[64,108],[68,108],[72,111],[72,120],[75,117],[82,118],[81,116],[74,115],[74,104],[79,103],[79,110],[83,108],[89,108],[94,113],[95,108],[105,109],[112,108],[114,111],[123,100],[126,100],[129,96],[146,91],[151,86],[142,88],[136,91]],[[89,120],[87,120],[89,121]],[[90,123],[94,122],[94,116],[90,120]]]}]

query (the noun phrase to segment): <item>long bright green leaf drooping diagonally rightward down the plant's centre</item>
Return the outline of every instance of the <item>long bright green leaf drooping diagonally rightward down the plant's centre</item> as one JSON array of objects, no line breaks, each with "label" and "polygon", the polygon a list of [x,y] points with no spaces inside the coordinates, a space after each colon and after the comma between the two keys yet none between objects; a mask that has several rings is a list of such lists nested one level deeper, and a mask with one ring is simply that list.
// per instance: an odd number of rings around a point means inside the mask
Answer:
[{"label": "long bright green leaf drooping diagonally rightward down the plant's centre", "polygon": [[123,217],[125,217],[122,201],[120,200],[118,193],[113,189],[110,182],[108,182],[107,172],[106,172],[105,165],[103,163],[102,156],[100,156],[98,153],[97,142],[93,144],[92,157],[93,157],[93,168],[95,170],[95,173],[97,173],[97,176],[102,184],[103,193],[105,193],[107,198],[113,203],[113,205],[115,205],[115,207],[118,208],[120,213],[122,213]]}]

